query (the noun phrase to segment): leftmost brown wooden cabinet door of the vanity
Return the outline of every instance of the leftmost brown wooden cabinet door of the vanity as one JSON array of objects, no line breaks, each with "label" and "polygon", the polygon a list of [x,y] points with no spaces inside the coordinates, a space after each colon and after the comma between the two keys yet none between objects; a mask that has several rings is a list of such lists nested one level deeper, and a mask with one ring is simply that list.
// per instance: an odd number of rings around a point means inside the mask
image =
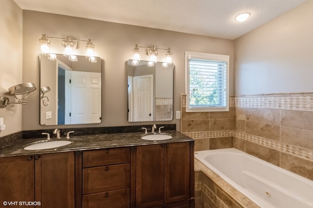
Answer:
[{"label": "leftmost brown wooden cabinet door of the vanity", "polygon": [[0,158],[0,167],[0,203],[4,201],[33,202],[33,156]]}]

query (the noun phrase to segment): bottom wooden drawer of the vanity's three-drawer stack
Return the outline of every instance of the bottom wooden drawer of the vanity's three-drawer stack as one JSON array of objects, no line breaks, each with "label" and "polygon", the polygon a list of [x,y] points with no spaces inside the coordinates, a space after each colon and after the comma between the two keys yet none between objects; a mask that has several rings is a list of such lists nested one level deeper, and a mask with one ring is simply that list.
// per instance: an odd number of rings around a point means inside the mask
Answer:
[{"label": "bottom wooden drawer of the vanity's three-drawer stack", "polygon": [[129,188],[83,196],[83,208],[128,208]]}]

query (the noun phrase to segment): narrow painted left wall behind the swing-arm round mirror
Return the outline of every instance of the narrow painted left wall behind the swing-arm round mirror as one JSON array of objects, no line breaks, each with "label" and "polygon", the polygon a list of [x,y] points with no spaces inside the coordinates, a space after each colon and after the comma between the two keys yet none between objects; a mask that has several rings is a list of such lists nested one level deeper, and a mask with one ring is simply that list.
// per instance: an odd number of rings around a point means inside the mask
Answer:
[{"label": "narrow painted left wall behind the swing-arm round mirror", "polygon": [[[8,88],[22,83],[22,9],[12,0],[1,0],[0,28],[0,96],[15,102]],[[0,118],[4,118],[6,125],[0,137],[22,130],[22,107],[21,104],[0,107]]]}]

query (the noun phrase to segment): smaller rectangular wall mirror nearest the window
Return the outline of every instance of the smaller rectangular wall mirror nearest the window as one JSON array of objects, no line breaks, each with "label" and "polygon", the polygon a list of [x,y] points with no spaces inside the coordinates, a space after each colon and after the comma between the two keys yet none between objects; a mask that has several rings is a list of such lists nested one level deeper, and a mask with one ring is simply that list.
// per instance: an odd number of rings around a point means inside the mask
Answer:
[{"label": "smaller rectangular wall mirror nearest the window", "polygon": [[162,62],[148,66],[147,61],[127,62],[128,121],[172,121],[174,97],[174,64]]}]

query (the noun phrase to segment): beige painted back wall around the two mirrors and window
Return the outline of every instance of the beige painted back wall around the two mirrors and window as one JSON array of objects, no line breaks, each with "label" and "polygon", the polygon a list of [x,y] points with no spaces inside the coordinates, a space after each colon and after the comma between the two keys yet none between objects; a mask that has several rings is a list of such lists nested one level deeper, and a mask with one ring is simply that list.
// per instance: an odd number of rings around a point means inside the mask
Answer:
[{"label": "beige painted back wall around the two mirrors and window", "polygon": [[[52,37],[73,36],[79,40],[92,39],[95,55],[104,60],[102,75],[102,123],[94,125],[70,125],[67,127],[100,127],[141,125],[146,123],[127,122],[127,70],[126,61],[132,59],[133,47],[155,45],[159,48],[171,47],[175,64],[174,111],[180,109],[180,94],[185,93],[185,51],[216,53],[230,56],[230,94],[233,94],[233,41],[173,31],[138,27],[106,21],[68,17],[62,15],[23,11],[23,81],[39,85],[38,39],[41,34]],[[51,40],[55,53],[62,53],[61,41]],[[79,54],[84,55],[83,44]],[[141,53],[141,59],[147,60]],[[161,52],[159,52],[161,57]],[[174,113],[175,114],[175,113]],[[147,124],[177,124],[171,122],[151,122]],[[50,126],[54,128],[56,126]],[[62,126],[59,126],[62,128]],[[65,126],[63,126],[65,127]],[[39,91],[36,90],[23,108],[22,129],[43,129],[39,125]]]}]

